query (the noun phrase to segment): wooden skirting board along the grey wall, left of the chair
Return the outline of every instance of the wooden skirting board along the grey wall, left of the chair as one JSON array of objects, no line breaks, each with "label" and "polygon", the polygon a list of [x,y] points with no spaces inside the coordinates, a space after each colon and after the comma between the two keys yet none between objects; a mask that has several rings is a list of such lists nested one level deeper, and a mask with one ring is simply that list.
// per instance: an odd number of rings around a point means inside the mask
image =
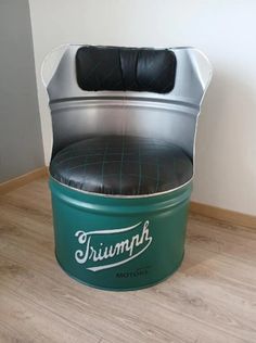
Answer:
[{"label": "wooden skirting board along the grey wall, left of the chair", "polygon": [[21,175],[14,179],[0,183],[0,195],[15,190],[18,187],[25,186],[36,179],[42,178],[48,175],[48,167],[35,169],[27,174]]}]

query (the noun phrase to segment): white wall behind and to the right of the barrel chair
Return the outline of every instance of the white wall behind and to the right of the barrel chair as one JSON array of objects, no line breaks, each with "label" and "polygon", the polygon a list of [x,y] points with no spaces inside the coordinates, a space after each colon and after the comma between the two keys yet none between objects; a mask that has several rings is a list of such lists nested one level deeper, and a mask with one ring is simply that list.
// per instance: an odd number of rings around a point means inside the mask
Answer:
[{"label": "white wall behind and to the right of the barrel chair", "polygon": [[214,65],[196,143],[193,200],[256,214],[256,1],[30,0],[46,160],[43,56],[66,43],[194,46]]}]

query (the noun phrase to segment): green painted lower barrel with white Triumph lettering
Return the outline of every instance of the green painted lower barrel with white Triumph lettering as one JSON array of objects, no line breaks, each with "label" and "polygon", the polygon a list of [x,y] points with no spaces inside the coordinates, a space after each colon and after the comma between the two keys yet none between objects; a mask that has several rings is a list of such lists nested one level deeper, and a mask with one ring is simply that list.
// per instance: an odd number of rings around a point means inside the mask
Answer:
[{"label": "green painted lower barrel with white Triumph lettering", "polygon": [[107,198],[50,179],[60,265],[73,278],[107,290],[135,290],[167,278],[182,262],[191,187]]}]

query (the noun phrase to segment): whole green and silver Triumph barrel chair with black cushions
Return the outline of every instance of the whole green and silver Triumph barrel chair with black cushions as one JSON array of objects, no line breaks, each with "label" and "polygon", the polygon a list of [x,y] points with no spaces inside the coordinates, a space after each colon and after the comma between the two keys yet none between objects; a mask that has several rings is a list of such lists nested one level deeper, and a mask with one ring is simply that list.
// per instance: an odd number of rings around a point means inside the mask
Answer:
[{"label": "whole green and silver Triumph barrel chair with black cushions", "polygon": [[55,255],[71,277],[136,290],[180,266],[210,77],[194,48],[68,45],[46,58]]}]

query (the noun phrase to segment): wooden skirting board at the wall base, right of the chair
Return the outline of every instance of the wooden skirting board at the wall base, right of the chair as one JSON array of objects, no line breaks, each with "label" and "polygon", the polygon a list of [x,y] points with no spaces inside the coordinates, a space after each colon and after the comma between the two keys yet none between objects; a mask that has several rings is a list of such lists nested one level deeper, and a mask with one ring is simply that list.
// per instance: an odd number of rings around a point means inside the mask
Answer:
[{"label": "wooden skirting board at the wall base, right of the chair", "polygon": [[215,207],[196,202],[191,202],[190,212],[205,217],[225,220],[233,225],[240,225],[256,229],[256,216],[243,214],[240,212]]}]

